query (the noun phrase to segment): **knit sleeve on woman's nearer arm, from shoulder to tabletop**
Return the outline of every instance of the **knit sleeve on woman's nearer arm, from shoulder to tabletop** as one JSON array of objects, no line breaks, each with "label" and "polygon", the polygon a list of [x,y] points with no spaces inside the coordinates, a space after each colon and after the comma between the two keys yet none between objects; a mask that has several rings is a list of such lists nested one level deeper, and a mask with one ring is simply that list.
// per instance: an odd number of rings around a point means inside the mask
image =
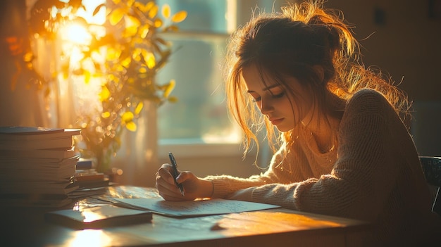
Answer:
[{"label": "knit sleeve on woman's nearer arm, from shoulder to tabletop", "polygon": [[[395,122],[387,122],[389,116]],[[398,173],[397,165],[390,165],[395,144],[388,125],[400,123],[382,95],[359,91],[347,103],[340,123],[338,158],[332,172],[292,184],[259,186],[253,200],[313,213],[374,217]]]}]

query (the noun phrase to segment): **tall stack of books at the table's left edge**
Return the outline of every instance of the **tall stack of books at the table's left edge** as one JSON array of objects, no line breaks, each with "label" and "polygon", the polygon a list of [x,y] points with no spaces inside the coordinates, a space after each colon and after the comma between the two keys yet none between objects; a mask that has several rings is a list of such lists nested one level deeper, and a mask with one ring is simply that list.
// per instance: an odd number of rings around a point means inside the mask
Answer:
[{"label": "tall stack of books at the table's left edge", "polygon": [[70,203],[80,129],[0,127],[0,203],[59,207]]}]

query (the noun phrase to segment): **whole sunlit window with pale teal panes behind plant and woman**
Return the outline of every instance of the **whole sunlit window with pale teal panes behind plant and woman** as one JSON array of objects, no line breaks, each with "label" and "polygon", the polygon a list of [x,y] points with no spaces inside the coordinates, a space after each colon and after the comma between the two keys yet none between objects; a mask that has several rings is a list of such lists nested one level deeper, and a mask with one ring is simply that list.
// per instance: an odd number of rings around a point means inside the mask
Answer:
[{"label": "whole sunlit window with pale teal panes behind plant and woman", "polygon": [[[177,103],[166,103],[158,111],[160,153],[185,146],[194,151],[240,153],[240,129],[228,118],[221,63],[230,32],[249,20],[251,11],[278,9],[276,1],[258,0],[159,0],[173,11],[187,11],[180,31],[167,34],[173,42],[172,56],[161,70],[158,82],[176,80],[172,94]],[[279,4],[280,4],[279,3]],[[195,148],[197,146],[197,148]],[[161,149],[164,148],[164,151]],[[213,150],[214,149],[214,150]],[[174,151],[177,152],[177,151]],[[180,156],[182,155],[180,154]],[[190,154],[191,155],[191,154]]]}]

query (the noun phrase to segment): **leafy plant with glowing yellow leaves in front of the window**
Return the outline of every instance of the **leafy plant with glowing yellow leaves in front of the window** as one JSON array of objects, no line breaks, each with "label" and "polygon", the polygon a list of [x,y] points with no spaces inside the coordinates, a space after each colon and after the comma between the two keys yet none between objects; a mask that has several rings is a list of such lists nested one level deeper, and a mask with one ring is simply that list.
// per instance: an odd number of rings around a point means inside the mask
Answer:
[{"label": "leafy plant with glowing yellow leaves in front of the window", "polygon": [[[47,36],[56,32],[55,27],[60,23],[70,22],[90,27],[84,18],[75,17],[80,8],[84,6],[77,0],[67,3],[38,0],[30,12],[30,23],[44,24],[44,28],[34,28],[33,32],[44,30]],[[172,15],[168,5],[160,8],[154,1],[143,4],[135,0],[112,0],[97,6],[94,14],[104,8],[105,34],[96,34],[89,44],[82,45],[82,59],[75,70],[67,61],[59,71],[64,77],[81,76],[86,84],[92,77],[101,79],[99,108],[92,114],[78,115],[73,123],[73,127],[82,129],[82,139],[77,145],[82,157],[96,158],[99,172],[110,169],[111,157],[120,148],[124,130],[137,129],[136,120],[144,103],[161,106],[176,101],[170,96],[174,80],[156,82],[156,73],[172,53],[170,43],[161,33],[177,31],[175,23],[187,16],[185,11]],[[86,64],[93,66],[87,68]]]}]

